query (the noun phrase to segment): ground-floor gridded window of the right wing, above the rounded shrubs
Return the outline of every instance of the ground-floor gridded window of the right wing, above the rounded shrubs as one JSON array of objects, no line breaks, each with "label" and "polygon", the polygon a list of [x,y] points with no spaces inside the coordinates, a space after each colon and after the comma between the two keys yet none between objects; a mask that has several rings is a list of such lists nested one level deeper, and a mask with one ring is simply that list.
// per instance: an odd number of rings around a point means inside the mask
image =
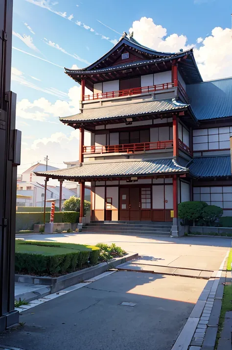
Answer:
[{"label": "ground-floor gridded window of the right wing, above the rounded shrubs", "polygon": [[193,187],[193,200],[232,209],[232,186]]}]

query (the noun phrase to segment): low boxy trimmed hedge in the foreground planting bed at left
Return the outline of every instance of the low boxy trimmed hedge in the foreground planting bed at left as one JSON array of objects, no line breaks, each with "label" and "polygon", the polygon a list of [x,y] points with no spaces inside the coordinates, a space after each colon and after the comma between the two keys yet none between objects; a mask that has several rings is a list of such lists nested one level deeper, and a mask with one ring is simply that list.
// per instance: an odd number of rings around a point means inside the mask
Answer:
[{"label": "low boxy trimmed hedge in the foreground planting bed at left", "polygon": [[97,247],[70,243],[16,240],[15,251],[16,273],[67,274],[99,259]]}]

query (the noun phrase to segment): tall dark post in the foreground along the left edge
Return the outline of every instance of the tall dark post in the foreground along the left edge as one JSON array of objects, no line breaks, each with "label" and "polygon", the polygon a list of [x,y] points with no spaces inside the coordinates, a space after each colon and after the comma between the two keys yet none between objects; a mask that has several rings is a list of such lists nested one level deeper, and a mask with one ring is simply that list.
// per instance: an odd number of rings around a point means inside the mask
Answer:
[{"label": "tall dark post in the foreground along the left edge", "polygon": [[16,94],[10,91],[13,0],[0,1],[0,331],[19,322],[14,310],[17,165]]}]

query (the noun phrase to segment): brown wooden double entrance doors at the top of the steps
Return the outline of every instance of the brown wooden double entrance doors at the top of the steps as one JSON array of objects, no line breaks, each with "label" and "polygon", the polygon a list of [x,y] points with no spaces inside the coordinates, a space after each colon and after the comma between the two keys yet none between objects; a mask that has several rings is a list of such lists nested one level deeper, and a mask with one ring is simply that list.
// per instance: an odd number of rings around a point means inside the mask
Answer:
[{"label": "brown wooden double entrance doors at the top of the steps", "polygon": [[119,189],[119,220],[151,220],[151,187]]}]

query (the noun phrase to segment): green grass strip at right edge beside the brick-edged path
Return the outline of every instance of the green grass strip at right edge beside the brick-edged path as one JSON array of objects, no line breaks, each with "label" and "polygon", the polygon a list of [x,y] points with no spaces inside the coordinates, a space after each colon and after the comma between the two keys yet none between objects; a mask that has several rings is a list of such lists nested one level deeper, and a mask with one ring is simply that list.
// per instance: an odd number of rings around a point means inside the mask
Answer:
[{"label": "green grass strip at right edge beside the brick-edged path", "polygon": [[[227,271],[231,271],[231,263],[232,263],[232,249],[229,253],[229,257],[227,261]],[[218,323],[217,339],[216,339],[215,348],[214,348],[215,350],[217,349],[218,340],[220,338],[220,333],[224,325],[225,314],[227,311],[232,311],[232,284],[231,283],[228,285],[225,285],[224,287],[222,308],[221,308],[221,313],[220,313],[220,318]]]}]

